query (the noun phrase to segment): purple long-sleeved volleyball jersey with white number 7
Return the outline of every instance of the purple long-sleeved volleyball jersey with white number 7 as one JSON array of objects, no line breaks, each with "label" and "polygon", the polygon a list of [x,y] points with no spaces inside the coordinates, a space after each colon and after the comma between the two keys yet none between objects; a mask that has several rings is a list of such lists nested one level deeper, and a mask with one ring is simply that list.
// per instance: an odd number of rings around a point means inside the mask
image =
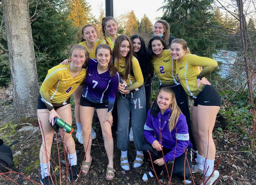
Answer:
[{"label": "purple long-sleeved volleyball jersey with white number 7", "polygon": [[112,112],[119,84],[119,74],[116,73],[111,77],[109,70],[99,74],[97,65],[96,59],[90,59],[82,96],[94,103],[108,101],[108,112]]}]

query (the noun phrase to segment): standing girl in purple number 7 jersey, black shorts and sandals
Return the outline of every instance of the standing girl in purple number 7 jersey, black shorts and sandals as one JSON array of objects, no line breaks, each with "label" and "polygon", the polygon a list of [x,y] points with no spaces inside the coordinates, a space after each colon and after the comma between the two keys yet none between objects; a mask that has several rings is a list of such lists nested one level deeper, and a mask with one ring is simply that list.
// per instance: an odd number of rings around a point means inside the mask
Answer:
[{"label": "standing girl in purple number 7 jersey, black shorts and sandals", "polygon": [[95,55],[97,60],[90,59],[85,85],[80,98],[80,120],[82,124],[84,151],[86,151],[89,140],[82,173],[86,175],[92,163],[92,139],[90,133],[94,108],[96,108],[104,137],[104,146],[109,160],[106,170],[106,180],[113,180],[115,169],[113,168],[114,144],[111,132],[111,126],[113,124],[111,112],[118,88],[119,75],[111,62],[111,49],[108,45],[100,44],[97,46]]}]

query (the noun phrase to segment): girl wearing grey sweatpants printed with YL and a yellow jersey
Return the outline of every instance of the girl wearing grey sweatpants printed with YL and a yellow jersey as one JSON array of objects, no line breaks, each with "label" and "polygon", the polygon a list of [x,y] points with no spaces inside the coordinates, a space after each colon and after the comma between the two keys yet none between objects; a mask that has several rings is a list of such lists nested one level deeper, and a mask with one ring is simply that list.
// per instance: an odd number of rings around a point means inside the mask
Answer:
[{"label": "girl wearing grey sweatpants printed with YL and a yellow jersey", "polygon": [[129,145],[129,115],[133,128],[134,145],[137,151],[133,168],[143,164],[143,128],[146,120],[145,88],[143,75],[138,60],[132,56],[133,45],[126,35],[120,35],[115,41],[113,50],[114,64],[125,83],[119,83],[117,93],[118,131],[117,147],[121,150],[121,167],[130,170],[127,158]]}]

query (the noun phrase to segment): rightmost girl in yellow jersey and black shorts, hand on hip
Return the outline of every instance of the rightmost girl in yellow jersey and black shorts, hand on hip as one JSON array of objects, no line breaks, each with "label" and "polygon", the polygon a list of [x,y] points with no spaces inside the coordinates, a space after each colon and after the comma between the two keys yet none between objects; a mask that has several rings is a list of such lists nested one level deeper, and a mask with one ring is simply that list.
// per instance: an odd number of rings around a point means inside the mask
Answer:
[{"label": "rightmost girl in yellow jersey and black shorts, hand on hip", "polygon": [[[190,54],[186,41],[175,39],[171,43],[171,55],[176,64],[176,77],[191,99],[195,100],[192,107],[193,132],[197,142],[197,164],[192,166],[192,173],[205,173],[205,179],[214,168],[215,144],[212,139],[217,113],[221,106],[221,98],[210,82],[204,78],[217,66],[211,58]],[[200,70],[200,67],[203,67]],[[207,158],[207,159],[206,159]],[[211,185],[219,177],[215,170],[207,185]]]}]

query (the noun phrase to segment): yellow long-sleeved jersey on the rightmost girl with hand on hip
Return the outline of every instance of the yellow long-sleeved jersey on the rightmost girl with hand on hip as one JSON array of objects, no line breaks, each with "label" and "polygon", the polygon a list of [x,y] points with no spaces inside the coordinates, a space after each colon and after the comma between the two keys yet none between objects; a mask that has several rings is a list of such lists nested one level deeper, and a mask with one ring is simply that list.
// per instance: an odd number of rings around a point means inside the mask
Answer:
[{"label": "yellow long-sleeved jersey on the rightmost girl with hand on hip", "polygon": [[[218,66],[214,59],[192,54],[185,54],[182,61],[178,63],[178,60],[175,60],[175,64],[176,77],[191,99],[195,99],[205,87],[205,85],[200,84],[197,88],[196,79],[205,77]],[[200,66],[203,67],[202,71]]]}]

